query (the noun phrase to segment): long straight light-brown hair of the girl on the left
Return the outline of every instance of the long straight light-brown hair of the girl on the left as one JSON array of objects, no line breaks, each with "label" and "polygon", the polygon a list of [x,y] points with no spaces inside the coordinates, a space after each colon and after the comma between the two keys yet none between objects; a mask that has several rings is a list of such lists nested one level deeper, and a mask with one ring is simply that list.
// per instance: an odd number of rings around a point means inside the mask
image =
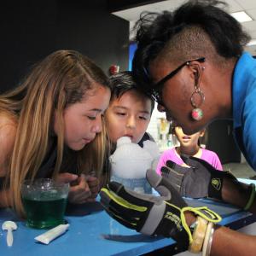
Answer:
[{"label": "long straight light-brown hair of the girl on the left", "polygon": [[[12,206],[20,216],[24,215],[21,183],[26,178],[37,176],[54,134],[54,115],[60,124],[60,131],[52,177],[65,167],[64,109],[81,101],[87,90],[99,85],[109,87],[108,78],[101,68],[76,51],[58,50],[38,63],[23,84],[0,96],[0,112],[9,114],[17,124],[7,185],[11,191]],[[103,129],[92,143],[79,152],[73,152],[75,161],[73,156],[67,155],[67,165],[72,160],[76,163],[73,168],[79,172],[94,171],[99,176],[105,156],[105,136]]]}]

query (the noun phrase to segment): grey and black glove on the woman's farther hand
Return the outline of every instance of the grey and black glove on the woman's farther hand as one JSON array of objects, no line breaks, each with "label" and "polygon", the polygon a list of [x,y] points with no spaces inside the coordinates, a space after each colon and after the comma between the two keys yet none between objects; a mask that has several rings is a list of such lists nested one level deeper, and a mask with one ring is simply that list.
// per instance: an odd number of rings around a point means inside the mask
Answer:
[{"label": "grey and black glove on the woman's farther hand", "polygon": [[205,160],[184,154],[181,157],[184,163],[190,167],[178,166],[168,160],[166,166],[161,168],[161,173],[163,177],[168,178],[182,196],[192,198],[211,197],[221,200],[223,179],[236,180],[236,177],[230,172],[219,171]]}]

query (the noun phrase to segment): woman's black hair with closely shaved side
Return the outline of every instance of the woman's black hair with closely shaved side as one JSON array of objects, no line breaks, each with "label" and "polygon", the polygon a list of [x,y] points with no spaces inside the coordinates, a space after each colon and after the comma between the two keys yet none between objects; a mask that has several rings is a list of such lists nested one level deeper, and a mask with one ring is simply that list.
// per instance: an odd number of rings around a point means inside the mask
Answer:
[{"label": "woman's black hair with closely shaved side", "polygon": [[173,12],[142,14],[135,27],[137,51],[132,61],[141,89],[147,92],[151,83],[148,65],[158,55],[177,63],[206,56],[218,66],[241,55],[250,37],[223,10],[225,5],[216,0],[190,0]]}]

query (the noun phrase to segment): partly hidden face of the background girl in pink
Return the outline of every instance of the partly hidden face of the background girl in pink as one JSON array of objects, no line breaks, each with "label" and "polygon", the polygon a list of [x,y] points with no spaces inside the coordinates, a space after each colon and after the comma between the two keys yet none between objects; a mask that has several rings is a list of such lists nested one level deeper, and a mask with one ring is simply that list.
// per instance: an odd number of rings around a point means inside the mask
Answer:
[{"label": "partly hidden face of the background girl in pink", "polygon": [[203,137],[204,131],[199,131],[191,135],[183,133],[183,129],[180,126],[174,128],[175,135],[181,147],[196,148],[198,147],[199,137]]}]

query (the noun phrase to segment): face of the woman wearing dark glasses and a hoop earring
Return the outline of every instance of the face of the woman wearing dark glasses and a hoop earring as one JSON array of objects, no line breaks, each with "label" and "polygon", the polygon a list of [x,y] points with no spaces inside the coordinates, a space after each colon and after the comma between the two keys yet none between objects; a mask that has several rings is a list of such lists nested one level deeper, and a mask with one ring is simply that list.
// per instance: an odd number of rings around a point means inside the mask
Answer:
[{"label": "face of the woman wearing dark glasses and a hoop earring", "polygon": [[[155,60],[150,65],[150,74],[157,83],[168,73],[175,70],[177,66],[163,60]],[[191,105],[191,96],[195,91],[195,72],[201,70],[201,63],[191,61],[189,66],[183,66],[171,79],[166,80],[162,87],[161,100],[164,107],[158,105],[160,112],[166,112],[166,117],[173,120],[176,125],[182,126],[186,134],[193,134],[201,131],[210,121],[212,110],[207,108],[209,103],[209,96],[206,96],[207,101],[203,102],[200,108],[203,110],[204,117],[200,121],[195,121],[191,117],[193,107]],[[202,73],[200,74],[202,76]],[[200,84],[202,89],[203,84]],[[202,91],[206,95],[206,88]]]}]

